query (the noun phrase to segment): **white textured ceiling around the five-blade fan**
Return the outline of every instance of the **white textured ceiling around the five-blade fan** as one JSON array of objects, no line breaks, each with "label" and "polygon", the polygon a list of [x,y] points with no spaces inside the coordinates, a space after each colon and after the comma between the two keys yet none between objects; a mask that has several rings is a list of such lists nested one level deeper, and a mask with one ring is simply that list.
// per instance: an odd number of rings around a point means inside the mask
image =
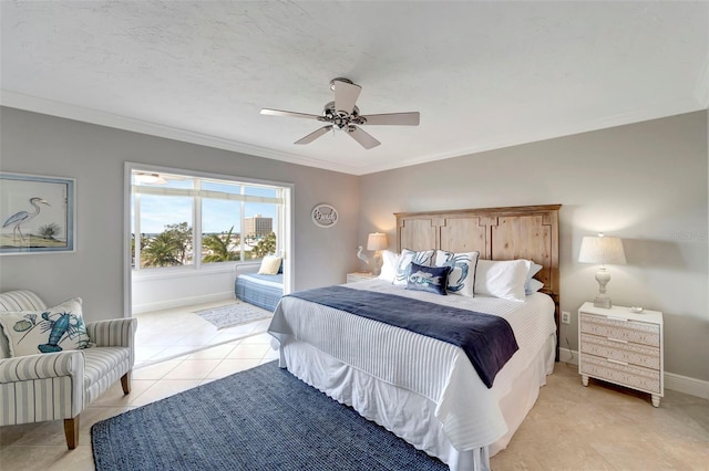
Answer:
[{"label": "white textured ceiling around the five-blade fan", "polygon": [[[354,175],[707,108],[709,3],[1,2],[0,103]],[[362,114],[292,143],[328,83]]]}]

